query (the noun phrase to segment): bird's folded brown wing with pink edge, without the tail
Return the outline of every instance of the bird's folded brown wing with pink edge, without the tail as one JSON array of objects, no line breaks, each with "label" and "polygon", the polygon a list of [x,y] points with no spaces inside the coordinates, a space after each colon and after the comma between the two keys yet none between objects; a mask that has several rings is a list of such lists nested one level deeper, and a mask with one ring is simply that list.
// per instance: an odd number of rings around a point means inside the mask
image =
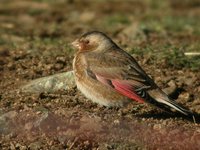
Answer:
[{"label": "bird's folded brown wing with pink edge, without the tail", "polygon": [[95,76],[99,82],[138,102],[146,100],[147,90],[157,87],[137,62],[121,49],[86,57],[89,76]]}]

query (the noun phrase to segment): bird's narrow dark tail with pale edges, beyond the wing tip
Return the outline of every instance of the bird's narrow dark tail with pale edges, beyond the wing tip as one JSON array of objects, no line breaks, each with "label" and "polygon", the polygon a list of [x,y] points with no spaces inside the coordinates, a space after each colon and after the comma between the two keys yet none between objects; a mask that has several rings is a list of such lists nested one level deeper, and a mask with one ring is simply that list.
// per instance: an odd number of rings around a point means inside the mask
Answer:
[{"label": "bird's narrow dark tail with pale edges, beyond the wing tip", "polygon": [[180,112],[181,114],[184,114],[188,117],[193,117],[193,113],[184,108],[183,106],[180,106],[178,103],[176,103],[174,100],[171,100],[167,94],[165,94],[160,89],[157,89],[156,91],[149,92],[150,97],[152,98],[151,103],[154,103],[157,107],[165,110],[165,111],[172,111],[172,109]]}]

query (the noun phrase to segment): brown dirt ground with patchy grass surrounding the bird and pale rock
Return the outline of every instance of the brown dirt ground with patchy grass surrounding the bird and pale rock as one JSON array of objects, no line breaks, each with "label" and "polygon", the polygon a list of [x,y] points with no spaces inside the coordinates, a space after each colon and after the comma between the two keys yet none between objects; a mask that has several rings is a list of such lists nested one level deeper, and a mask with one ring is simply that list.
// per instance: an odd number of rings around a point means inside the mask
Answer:
[{"label": "brown dirt ground with patchy grass surrounding the bird and pale rock", "polygon": [[[72,70],[69,43],[107,33],[161,88],[200,114],[198,0],[2,0],[0,2],[0,149],[200,149],[199,118],[146,104],[106,108],[74,85],[22,93],[22,85]],[[198,117],[198,116],[197,116]]]}]

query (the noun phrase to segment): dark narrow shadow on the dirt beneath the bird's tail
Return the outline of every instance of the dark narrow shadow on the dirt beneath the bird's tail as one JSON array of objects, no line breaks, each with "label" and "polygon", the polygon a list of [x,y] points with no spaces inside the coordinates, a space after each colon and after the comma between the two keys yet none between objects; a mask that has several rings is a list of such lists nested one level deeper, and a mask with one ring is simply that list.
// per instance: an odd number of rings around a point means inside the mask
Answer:
[{"label": "dark narrow shadow on the dirt beneath the bird's tail", "polygon": [[188,120],[190,122],[194,122],[197,124],[200,124],[200,114],[193,113],[193,116],[184,116],[180,113],[174,112],[173,114],[167,113],[167,112],[148,112],[143,114],[138,114],[136,117],[142,117],[142,118],[154,118],[154,119],[168,119],[168,118],[183,118],[185,120]]}]

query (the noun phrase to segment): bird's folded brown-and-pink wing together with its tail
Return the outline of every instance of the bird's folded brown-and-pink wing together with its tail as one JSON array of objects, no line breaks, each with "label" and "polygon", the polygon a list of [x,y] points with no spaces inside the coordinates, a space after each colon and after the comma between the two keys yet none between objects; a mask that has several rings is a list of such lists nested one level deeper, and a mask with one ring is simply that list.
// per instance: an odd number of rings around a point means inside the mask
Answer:
[{"label": "bird's folded brown-and-pink wing together with its tail", "polygon": [[148,102],[170,112],[171,108],[190,116],[192,112],[172,101],[128,53],[121,49],[104,54],[87,54],[90,77],[138,102]]}]

